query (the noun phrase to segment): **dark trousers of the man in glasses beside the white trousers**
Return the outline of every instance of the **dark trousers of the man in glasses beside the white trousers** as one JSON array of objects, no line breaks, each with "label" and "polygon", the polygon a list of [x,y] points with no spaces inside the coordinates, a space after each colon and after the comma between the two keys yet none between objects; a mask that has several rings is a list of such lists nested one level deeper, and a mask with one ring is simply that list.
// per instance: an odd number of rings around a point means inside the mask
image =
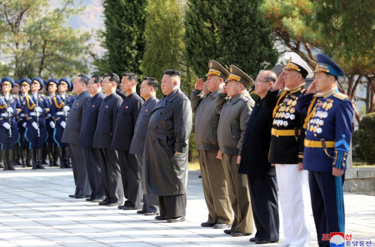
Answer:
[{"label": "dark trousers of the man in glasses beside the white trousers", "polygon": [[256,228],[255,238],[278,241],[278,199],[276,176],[247,175],[252,215]]}]

